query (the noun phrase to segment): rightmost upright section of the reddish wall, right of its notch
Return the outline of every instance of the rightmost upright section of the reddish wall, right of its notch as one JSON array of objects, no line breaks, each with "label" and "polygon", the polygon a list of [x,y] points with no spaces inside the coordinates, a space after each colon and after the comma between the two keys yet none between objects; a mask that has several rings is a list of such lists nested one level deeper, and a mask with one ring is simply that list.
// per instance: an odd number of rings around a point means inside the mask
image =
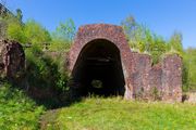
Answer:
[{"label": "rightmost upright section of the reddish wall, right of its notch", "polygon": [[162,62],[162,99],[166,101],[181,101],[182,99],[182,58],[167,55]]}]

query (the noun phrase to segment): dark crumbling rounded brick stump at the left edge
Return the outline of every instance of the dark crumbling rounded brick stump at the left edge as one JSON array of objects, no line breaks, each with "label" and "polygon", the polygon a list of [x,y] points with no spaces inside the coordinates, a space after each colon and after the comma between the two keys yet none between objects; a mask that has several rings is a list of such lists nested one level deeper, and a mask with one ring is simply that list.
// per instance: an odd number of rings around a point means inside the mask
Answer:
[{"label": "dark crumbling rounded brick stump at the left edge", "polygon": [[0,76],[19,81],[25,70],[25,54],[20,43],[0,40]]}]

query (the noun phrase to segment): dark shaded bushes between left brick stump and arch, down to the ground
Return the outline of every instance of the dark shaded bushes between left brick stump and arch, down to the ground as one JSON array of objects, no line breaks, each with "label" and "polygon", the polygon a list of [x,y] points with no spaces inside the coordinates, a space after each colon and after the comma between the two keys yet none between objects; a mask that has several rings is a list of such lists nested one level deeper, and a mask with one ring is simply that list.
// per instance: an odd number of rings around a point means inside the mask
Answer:
[{"label": "dark shaded bushes between left brick stump and arch, down to the ground", "polygon": [[[61,53],[42,52],[33,46],[26,53],[26,89],[37,92],[36,101],[48,108],[62,105],[61,94],[69,91],[65,57]],[[34,96],[34,95],[33,95]],[[60,100],[61,99],[61,100]]]}]

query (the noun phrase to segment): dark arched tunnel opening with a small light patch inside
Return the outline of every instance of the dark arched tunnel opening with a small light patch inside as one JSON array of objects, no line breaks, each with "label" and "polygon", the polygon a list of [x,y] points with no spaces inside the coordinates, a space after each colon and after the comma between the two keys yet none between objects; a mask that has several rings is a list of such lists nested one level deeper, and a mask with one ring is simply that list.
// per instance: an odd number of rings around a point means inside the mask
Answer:
[{"label": "dark arched tunnel opening with a small light patch inside", "polygon": [[77,95],[124,95],[120,50],[106,39],[93,40],[82,49],[72,77]]}]

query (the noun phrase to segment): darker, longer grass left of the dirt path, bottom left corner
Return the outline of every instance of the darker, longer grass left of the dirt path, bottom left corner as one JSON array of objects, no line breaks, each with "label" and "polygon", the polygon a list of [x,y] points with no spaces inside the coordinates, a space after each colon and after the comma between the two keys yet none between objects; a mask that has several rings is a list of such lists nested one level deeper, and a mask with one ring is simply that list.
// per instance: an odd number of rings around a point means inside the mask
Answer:
[{"label": "darker, longer grass left of the dirt path, bottom left corner", "polygon": [[23,91],[0,86],[0,130],[37,130],[42,112]]}]

